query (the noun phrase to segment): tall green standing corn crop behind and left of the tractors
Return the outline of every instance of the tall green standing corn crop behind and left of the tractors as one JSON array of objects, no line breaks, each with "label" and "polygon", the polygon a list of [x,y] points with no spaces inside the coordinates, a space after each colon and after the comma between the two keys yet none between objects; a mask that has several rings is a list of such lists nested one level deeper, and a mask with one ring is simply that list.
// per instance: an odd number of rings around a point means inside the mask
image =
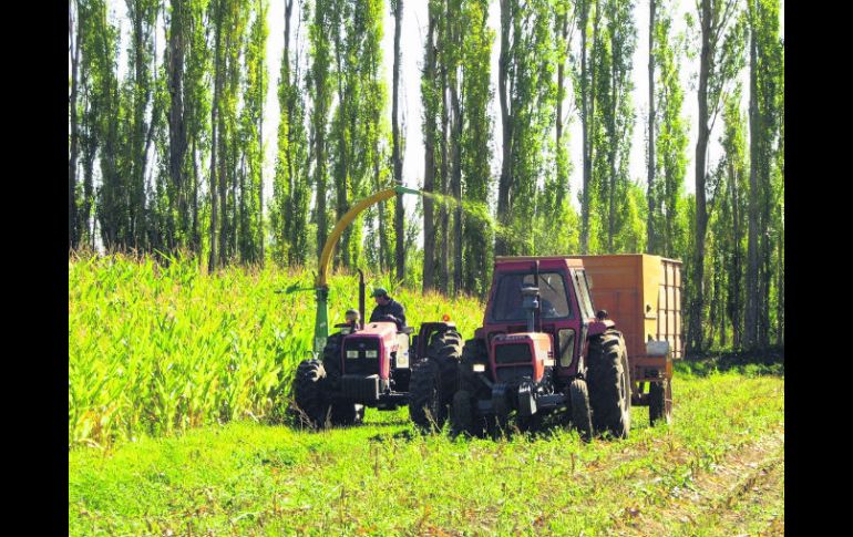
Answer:
[{"label": "tall green standing corn crop behind and left of the tractors", "polygon": [[[483,306],[367,276],[407,307],[409,324],[451,316],[473,335]],[[235,419],[280,419],[314,338],[310,271],[121,255],[69,260],[69,447],[106,447]],[[368,293],[367,314],[372,301]],[[330,279],[329,320],[358,306],[358,277]]]}]

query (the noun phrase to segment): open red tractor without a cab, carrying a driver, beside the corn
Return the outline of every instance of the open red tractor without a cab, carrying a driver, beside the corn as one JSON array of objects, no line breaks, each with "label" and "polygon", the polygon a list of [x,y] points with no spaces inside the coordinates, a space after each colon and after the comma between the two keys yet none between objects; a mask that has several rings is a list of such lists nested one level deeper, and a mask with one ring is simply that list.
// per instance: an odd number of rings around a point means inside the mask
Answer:
[{"label": "open red tractor without a cab, carrying a driver, beside the corn", "polygon": [[458,380],[462,337],[455,324],[423,323],[410,341],[413,329],[393,318],[364,323],[363,275],[359,313],[358,320],[336,324],[340,330],[326,340],[321,359],[297,368],[294,399],[302,424],[352,425],[366,406],[395,410],[411,400],[418,425],[441,426]]}]

